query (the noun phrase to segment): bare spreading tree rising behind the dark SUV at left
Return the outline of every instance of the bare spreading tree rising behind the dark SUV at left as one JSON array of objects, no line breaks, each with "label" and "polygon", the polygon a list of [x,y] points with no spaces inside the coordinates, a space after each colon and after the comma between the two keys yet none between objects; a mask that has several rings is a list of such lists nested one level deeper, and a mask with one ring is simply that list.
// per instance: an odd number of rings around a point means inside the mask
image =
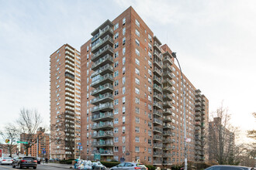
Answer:
[{"label": "bare spreading tree rising behind the dark SUV at left", "polygon": [[27,144],[23,144],[26,155],[28,155],[29,148],[36,144],[43,131],[37,131],[40,128],[43,120],[37,110],[28,110],[22,108],[19,112],[19,119],[16,121],[19,127],[20,141],[26,141]]}]

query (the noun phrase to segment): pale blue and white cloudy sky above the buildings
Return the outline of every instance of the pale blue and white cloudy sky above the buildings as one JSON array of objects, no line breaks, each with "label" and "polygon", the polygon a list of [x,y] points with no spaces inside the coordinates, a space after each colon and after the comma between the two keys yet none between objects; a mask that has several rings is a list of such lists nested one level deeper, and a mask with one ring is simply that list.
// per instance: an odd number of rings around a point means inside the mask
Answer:
[{"label": "pale blue and white cloudy sky above the buildings", "polygon": [[95,28],[130,5],[177,53],[210,113],[223,102],[242,134],[256,128],[254,0],[0,0],[0,128],[22,107],[49,124],[50,55],[65,43],[80,50]]}]

